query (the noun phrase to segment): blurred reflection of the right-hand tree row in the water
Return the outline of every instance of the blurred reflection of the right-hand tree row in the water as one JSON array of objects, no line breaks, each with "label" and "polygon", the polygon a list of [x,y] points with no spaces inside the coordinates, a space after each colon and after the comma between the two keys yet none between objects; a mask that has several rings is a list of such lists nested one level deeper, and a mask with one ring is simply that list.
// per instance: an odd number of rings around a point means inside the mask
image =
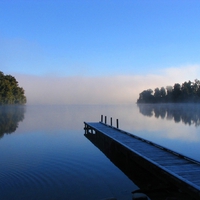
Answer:
[{"label": "blurred reflection of the right-hand tree row in the water", "polygon": [[187,125],[200,125],[200,105],[197,104],[138,104],[141,114],[174,120]]}]

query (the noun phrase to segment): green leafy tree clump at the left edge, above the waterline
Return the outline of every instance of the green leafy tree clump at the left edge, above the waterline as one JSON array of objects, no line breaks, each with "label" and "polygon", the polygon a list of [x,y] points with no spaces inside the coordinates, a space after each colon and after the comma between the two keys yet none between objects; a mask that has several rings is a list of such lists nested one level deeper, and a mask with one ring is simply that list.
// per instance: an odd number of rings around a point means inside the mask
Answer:
[{"label": "green leafy tree clump at the left edge, above the waterline", "polygon": [[24,89],[18,86],[15,77],[4,75],[0,71],[0,105],[25,103],[26,96]]}]

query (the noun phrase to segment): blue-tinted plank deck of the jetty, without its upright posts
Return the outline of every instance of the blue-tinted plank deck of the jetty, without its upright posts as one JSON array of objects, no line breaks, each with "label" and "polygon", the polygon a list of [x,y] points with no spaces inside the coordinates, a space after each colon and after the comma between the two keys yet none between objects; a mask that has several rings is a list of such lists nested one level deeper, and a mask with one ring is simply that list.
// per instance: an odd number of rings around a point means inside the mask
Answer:
[{"label": "blue-tinted plank deck of the jetty, without its upright posts", "polygon": [[86,129],[98,131],[131,151],[142,167],[200,199],[200,162],[104,123],[84,123]]}]

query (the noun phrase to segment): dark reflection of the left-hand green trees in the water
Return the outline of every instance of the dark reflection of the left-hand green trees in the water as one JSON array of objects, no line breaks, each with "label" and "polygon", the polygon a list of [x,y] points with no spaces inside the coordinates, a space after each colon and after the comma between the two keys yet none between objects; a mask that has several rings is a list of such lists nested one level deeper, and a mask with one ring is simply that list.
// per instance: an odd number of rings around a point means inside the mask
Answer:
[{"label": "dark reflection of the left-hand green trees in the water", "polygon": [[24,106],[0,106],[0,138],[16,131],[24,113]]}]

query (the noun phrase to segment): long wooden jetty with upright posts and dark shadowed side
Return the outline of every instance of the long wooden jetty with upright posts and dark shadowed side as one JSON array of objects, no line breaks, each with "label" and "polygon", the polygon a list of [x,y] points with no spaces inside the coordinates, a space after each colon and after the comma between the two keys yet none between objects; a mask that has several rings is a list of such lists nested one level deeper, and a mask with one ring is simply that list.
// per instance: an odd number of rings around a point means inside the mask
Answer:
[{"label": "long wooden jetty with upright posts and dark shadowed side", "polygon": [[[101,122],[84,122],[84,124],[86,137],[92,140],[94,135],[98,135],[99,138],[103,138],[105,144],[101,143],[107,152],[115,149],[121,158],[135,163],[132,165],[133,170],[136,165],[145,170],[145,177],[141,174],[141,179],[145,180],[139,180],[139,177],[135,180],[151,199],[167,199],[161,198],[162,195],[155,198],[155,192],[164,191],[164,195],[166,191],[174,192],[172,199],[200,199],[200,162],[119,129],[118,120],[117,128],[112,126],[112,120],[111,125],[103,123],[103,118]],[[108,149],[111,147],[112,149]],[[134,171],[131,169],[128,169],[129,177],[134,176]],[[144,181],[146,181],[145,187],[143,187]],[[157,185],[160,182],[160,186],[147,186],[154,181]],[[141,182],[143,182],[142,187]],[[152,194],[152,191],[155,192]]]}]

